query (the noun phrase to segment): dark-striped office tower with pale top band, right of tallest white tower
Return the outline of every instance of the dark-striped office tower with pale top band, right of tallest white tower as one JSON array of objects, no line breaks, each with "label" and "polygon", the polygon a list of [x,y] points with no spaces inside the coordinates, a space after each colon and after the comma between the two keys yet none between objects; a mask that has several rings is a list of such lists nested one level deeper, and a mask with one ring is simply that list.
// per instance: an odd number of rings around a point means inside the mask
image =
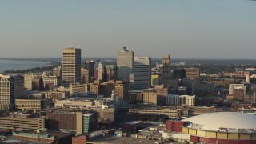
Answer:
[{"label": "dark-striped office tower with pale top band, right of tallest white tower", "polygon": [[151,58],[134,58],[134,90],[147,89],[151,86]]}]

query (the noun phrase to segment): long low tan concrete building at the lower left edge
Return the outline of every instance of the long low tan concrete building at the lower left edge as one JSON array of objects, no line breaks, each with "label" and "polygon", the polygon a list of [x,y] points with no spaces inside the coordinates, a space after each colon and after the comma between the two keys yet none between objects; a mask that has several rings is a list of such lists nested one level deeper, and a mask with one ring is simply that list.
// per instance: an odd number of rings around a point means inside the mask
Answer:
[{"label": "long low tan concrete building at the lower left edge", "polygon": [[44,118],[27,118],[26,116],[0,117],[0,129],[2,130],[38,130],[45,128]]}]

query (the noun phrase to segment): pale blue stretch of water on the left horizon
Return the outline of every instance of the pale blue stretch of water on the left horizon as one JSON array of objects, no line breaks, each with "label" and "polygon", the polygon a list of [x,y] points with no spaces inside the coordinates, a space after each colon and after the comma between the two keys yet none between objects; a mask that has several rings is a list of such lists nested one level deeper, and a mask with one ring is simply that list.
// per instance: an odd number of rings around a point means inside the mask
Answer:
[{"label": "pale blue stretch of water on the left horizon", "polygon": [[6,70],[26,70],[44,66],[50,66],[50,62],[0,59],[0,73]]}]

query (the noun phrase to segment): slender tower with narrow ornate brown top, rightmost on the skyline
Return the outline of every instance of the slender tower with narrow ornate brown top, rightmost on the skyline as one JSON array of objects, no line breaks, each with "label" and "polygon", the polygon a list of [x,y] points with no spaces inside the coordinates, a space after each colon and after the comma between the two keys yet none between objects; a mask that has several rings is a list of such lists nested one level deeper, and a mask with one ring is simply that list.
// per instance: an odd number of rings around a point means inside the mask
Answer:
[{"label": "slender tower with narrow ornate brown top, rightmost on the skyline", "polygon": [[162,76],[161,82],[164,87],[169,87],[171,81],[171,73],[170,73],[170,55],[165,54],[162,58]]}]

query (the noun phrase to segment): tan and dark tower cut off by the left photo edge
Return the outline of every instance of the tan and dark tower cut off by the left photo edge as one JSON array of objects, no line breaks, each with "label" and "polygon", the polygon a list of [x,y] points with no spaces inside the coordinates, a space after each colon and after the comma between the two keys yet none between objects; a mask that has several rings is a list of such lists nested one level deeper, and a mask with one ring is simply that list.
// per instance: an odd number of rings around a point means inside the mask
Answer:
[{"label": "tan and dark tower cut off by the left photo edge", "polygon": [[22,97],[23,90],[22,76],[0,74],[0,109],[14,109],[15,99]]}]

